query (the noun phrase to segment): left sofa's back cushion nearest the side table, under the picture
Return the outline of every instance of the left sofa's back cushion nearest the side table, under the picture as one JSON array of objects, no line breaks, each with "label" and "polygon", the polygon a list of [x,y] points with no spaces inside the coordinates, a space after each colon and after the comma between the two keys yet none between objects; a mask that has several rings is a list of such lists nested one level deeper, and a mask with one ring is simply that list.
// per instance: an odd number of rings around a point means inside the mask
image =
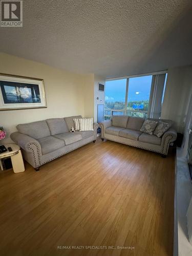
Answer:
[{"label": "left sofa's back cushion nearest the side table, under the picture", "polygon": [[19,133],[26,134],[34,139],[40,139],[51,135],[49,126],[45,120],[18,124],[17,130]]}]

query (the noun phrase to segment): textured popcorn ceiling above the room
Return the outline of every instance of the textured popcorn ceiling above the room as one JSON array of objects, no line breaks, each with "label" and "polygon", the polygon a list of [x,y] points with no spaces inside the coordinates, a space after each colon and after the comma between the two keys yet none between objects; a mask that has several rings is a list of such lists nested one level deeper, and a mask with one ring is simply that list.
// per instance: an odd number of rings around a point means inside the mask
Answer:
[{"label": "textured popcorn ceiling above the room", "polygon": [[[191,0],[25,0],[0,51],[105,78],[192,63]],[[0,60],[1,61],[1,60]]]}]

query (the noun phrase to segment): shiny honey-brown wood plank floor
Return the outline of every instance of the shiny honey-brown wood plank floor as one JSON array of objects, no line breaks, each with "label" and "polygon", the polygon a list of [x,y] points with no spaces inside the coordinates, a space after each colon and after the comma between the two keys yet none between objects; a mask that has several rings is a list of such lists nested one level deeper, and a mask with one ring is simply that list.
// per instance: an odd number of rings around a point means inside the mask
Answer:
[{"label": "shiny honey-brown wood plank floor", "polygon": [[98,139],[39,172],[2,172],[1,255],[173,255],[174,165]]}]

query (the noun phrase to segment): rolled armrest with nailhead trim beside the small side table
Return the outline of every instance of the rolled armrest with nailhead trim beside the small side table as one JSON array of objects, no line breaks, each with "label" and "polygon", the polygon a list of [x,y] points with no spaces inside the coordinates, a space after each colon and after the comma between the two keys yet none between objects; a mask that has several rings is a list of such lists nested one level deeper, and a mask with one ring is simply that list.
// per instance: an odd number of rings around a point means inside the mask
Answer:
[{"label": "rolled armrest with nailhead trim beside the small side table", "polygon": [[40,153],[40,155],[42,155],[42,152],[41,152],[41,145],[40,143],[26,135],[26,134],[22,134],[22,133],[18,133],[18,132],[15,132],[15,133],[12,133],[11,134],[11,139],[17,143],[21,148],[23,148],[23,150],[25,150],[26,152],[33,152],[34,148]]}]

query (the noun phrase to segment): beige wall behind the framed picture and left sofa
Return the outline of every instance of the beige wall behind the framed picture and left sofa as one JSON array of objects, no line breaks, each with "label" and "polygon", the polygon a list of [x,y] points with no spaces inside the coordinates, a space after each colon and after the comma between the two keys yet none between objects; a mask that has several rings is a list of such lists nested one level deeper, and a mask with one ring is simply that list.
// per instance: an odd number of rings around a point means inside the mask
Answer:
[{"label": "beige wall behind the framed picture and left sofa", "polygon": [[18,123],[27,123],[53,117],[94,115],[94,75],[79,75],[47,65],[0,53],[0,73],[42,78],[45,82],[47,109],[14,110],[0,112],[0,125],[10,133]]}]

